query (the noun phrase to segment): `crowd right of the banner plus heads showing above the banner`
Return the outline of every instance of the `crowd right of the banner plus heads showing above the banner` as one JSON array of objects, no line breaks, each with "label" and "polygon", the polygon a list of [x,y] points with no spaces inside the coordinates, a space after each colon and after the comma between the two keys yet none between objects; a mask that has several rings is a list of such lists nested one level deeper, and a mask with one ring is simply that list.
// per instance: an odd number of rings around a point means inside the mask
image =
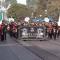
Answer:
[{"label": "crowd right of the banner plus heads showing above the banner", "polygon": [[[44,27],[45,28],[45,37],[48,39],[56,40],[60,36],[60,26],[58,26],[57,22],[42,22],[42,23],[31,23],[32,27]],[[22,26],[25,26],[24,24]],[[27,25],[28,26],[28,25]]]}]

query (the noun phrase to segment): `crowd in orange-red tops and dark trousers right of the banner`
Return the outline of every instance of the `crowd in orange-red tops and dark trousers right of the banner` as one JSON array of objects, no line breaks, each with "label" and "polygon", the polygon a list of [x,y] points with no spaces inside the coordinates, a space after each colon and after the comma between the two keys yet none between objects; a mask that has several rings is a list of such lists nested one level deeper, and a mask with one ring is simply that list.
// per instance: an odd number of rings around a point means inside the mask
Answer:
[{"label": "crowd in orange-red tops and dark trousers right of the banner", "polygon": [[49,39],[56,40],[60,36],[60,27],[57,23],[49,23],[46,28],[46,36],[48,36]]}]

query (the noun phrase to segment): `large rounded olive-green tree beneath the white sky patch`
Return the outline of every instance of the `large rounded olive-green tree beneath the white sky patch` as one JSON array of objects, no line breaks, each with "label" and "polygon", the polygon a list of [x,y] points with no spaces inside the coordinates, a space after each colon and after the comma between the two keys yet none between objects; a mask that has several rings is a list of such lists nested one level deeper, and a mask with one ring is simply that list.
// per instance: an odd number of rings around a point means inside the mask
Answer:
[{"label": "large rounded olive-green tree beneath the white sky patch", "polygon": [[31,16],[31,11],[25,5],[13,4],[8,9],[7,15],[8,17],[19,18],[21,16]]}]

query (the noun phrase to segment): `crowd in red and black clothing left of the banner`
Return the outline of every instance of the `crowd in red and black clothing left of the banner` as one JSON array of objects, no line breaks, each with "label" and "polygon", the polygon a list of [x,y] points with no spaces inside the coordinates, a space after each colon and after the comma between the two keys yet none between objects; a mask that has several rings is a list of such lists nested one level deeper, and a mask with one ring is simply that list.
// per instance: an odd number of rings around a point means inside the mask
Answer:
[{"label": "crowd in red and black clothing left of the banner", "polygon": [[18,25],[15,22],[11,22],[9,24],[6,24],[5,22],[2,22],[0,24],[0,40],[4,41],[7,38],[7,33],[10,35],[10,37],[18,38]]}]

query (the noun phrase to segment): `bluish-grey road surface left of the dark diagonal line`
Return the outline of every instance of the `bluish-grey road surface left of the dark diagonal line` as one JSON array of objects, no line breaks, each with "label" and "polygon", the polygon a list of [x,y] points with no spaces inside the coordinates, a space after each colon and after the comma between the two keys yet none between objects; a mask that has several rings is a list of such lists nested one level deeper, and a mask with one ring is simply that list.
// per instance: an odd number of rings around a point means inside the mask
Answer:
[{"label": "bluish-grey road surface left of the dark diagonal line", "polygon": [[42,60],[42,58],[7,35],[6,41],[0,41],[0,60]]}]

